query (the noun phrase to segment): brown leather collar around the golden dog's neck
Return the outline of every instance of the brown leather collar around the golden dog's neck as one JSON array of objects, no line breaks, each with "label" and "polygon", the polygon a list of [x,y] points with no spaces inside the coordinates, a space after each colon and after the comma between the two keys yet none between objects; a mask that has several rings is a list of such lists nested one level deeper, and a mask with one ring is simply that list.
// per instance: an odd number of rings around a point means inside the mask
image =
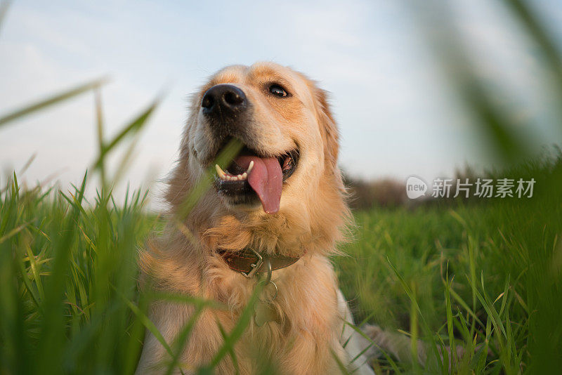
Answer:
[{"label": "brown leather collar around the golden dog's neck", "polygon": [[275,271],[289,267],[301,258],[300,256],[261,255],[252,249],[240,251],[219,249],[217,252],[231,270],[240,272],[246,277],[252,277],[256,272],[268,272],[268,261],[271,264],[271,270]]}]

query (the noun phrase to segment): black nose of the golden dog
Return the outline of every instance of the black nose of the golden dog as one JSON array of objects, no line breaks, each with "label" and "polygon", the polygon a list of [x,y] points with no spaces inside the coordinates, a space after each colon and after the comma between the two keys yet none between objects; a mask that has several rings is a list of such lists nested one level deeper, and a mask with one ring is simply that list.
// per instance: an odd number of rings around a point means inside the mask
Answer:
[{"label": "black nose of the golden dog", "polygon": [[223,115],[241,112],[246,108],[246,96],[244,91],[236,86],[220,84],[207,90],[201,101],[203,114],[212,116],[221,113]]}]

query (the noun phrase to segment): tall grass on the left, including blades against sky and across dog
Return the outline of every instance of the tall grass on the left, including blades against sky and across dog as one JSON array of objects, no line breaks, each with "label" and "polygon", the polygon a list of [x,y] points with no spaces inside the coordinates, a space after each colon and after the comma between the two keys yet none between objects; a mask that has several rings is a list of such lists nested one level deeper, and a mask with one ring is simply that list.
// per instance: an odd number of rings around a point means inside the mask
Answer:
[{"label": "tall grass on the left, including blades against sky and across dog", "polygon": [[[164,299],[190,303],[197,311],[224,308],[214,301],[190,296],[141,293],[137,254],[159,217],[143,209],[148,192],[127,190],[117,204],[112,187],[123,169],[107,176],[105,159],[127,140],[134,143],[159,100],[105,140],[99,88],[103,81],[72,88],[0,117],[0,126],[88,91],[96,93],[98,156],[92,164],[101,185],[92,202],[84,196],[87,174],[70,192],[38,185],[22,188],[9,176],[0,190],[0,373],[1,374],[132,374],[141,352],[145,329],[168,350],[169,371],[178,369],[184,340],[166,343],[146,315],[150,301]],[[218,159],[232,158],[240,149],[233,142]],[[209,186],[207,173],[186,200],[183,215]],[[235,329],[225,334],[223,348],[201,373],[212,372],[229,355],[253,312],[254,298]],[[193,318],[193,322],[197,315]]]}]

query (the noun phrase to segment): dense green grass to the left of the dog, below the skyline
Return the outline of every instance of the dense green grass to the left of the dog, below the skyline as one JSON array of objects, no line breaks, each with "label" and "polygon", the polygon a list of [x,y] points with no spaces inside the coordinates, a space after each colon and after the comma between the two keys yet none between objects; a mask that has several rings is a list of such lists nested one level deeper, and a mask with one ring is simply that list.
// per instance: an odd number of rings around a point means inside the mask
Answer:
[{"label": "dense green grass to the left of the dog, below the skyline", "polygon": [[[85,181],[85,180],[84,180]],[[0,372],[130,373],[143,329],[136,247],[155,224],[135,193],[122,206],[100,195],[25,191],[15,177],[0,206]]]}]

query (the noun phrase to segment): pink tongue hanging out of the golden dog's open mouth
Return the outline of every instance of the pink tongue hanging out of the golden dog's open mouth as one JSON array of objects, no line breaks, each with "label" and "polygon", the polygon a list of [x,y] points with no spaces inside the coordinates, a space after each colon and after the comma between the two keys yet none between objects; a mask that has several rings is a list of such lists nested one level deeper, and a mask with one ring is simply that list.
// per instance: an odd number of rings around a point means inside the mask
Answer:
[{"label": "pink tongue hanging out of the golden dog's open mouth", "polygon": [[243,169],[248,169],[250,162],[254,167],[248,175],[248,183],[261,201],[263,211],[276,213],[279,211],[281,190],[283,188],[283,173],[275,157],[256,157],[244,155],[237,157],[235,163]]}]

